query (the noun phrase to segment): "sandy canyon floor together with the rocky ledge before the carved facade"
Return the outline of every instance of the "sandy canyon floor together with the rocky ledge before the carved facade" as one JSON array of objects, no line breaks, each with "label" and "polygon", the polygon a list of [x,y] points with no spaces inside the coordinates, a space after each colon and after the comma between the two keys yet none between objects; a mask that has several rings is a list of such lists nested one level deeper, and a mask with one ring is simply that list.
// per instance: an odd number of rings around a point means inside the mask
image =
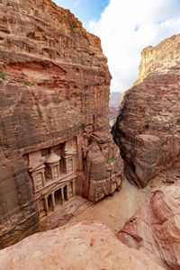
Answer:
[{"label": "sandy canyon floor together with the rocky ledge before the carved facade", "polygon": [[54,229],[66,223],[83,220],[97,220],[105,223],[113,232],[117,232],[138,210],[139,206],[149,200],[150,190],[150,183],[145,189],[139,189],[125,178],[119,192],[105,197],[96,204],[76,197],[72,202],[68,202],[63,210],[59,208],[42,221],[40,230]]}]

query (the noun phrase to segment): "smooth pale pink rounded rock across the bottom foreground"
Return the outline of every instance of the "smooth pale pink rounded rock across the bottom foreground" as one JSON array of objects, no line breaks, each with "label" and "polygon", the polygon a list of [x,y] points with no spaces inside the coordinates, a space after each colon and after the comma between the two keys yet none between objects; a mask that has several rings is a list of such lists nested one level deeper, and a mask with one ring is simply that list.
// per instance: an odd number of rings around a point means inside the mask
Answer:
[{"label": "smooth pale pink rounded rock across the bottom foreground", "polygon": [[25,238],[1,250],[0,263],[2,270],[163,270],[98,222],[75,223]]}]

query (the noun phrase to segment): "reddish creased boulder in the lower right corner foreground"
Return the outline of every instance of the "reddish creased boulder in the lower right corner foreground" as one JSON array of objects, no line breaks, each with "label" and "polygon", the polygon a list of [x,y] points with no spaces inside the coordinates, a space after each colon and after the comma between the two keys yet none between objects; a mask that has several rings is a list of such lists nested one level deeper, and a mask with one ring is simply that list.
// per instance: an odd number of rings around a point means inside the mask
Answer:
[{"label": "reddish creased boulder in the lower right corner foreground", "polygon": [[160,257],[170,269],[180,269],[180,182],[158,187],[117,233],[128,247]]}]

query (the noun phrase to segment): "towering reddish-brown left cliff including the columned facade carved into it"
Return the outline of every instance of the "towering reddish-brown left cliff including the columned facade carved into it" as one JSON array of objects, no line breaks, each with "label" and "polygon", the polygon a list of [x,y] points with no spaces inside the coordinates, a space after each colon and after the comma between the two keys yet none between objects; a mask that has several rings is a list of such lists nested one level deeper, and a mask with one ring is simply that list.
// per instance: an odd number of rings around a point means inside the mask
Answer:
[{"label": "towering reddish-brown left cliff including the columned facade carved into it", "polygon": [[99,38],[51,0],[0,1],[0,247],[76,194],[121,185]]}]

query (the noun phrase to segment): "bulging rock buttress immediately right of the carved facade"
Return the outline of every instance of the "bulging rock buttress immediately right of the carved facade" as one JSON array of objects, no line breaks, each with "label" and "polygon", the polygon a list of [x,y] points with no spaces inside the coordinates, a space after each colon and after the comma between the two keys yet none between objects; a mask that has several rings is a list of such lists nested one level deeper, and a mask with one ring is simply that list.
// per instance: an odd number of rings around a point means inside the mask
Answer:
[{"label": "bulging rock buttress immediately right of the carved facade", "polygon": [[123,162],[120,150],[105,132],[93,132],[91,143],[86,141],[86,146],[85,148],[85,144],[83,145],[85,158],[83,194],[89,200],[98,202],[104,195],[112,194],[121,186]]}]

